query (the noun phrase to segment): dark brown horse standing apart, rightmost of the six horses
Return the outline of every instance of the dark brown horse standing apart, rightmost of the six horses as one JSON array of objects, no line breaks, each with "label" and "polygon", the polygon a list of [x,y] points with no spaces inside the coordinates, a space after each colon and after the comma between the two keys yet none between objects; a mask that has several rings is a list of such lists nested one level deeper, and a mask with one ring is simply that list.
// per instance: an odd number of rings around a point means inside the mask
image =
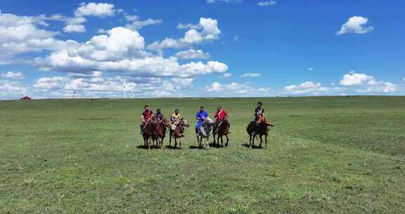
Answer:
[{"label": "dark brown horse standing apart, rightmost of the six horses", "polygon": [[262,142],[263,142],[263,135],[264,135],[264,141],[265,145],[267,148],[267,136],[269,135],[269,126],[274,127],[273,124],[271,124],[268,120],[265,120],[264,118],[259,118],[258,120],[258,125],[256,125],[256,121],[252,121],[249,123],[248,127],[246,128],[246,131],[249,134],[249,147],[255,146],[255,138],[257,135],[259,135],[260,139],[260,147],[262,147]]}]

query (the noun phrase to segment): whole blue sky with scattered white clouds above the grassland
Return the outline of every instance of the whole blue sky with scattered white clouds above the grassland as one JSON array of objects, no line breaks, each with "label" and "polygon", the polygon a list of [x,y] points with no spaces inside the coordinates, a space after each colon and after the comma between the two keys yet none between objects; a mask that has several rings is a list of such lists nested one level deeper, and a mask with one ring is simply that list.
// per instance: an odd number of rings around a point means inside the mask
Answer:
[{"label": "whole blue sky with scattered white clouds above the grassland", "polygon": [[3,0],[0,99],[405,95],[404,6]]}]

